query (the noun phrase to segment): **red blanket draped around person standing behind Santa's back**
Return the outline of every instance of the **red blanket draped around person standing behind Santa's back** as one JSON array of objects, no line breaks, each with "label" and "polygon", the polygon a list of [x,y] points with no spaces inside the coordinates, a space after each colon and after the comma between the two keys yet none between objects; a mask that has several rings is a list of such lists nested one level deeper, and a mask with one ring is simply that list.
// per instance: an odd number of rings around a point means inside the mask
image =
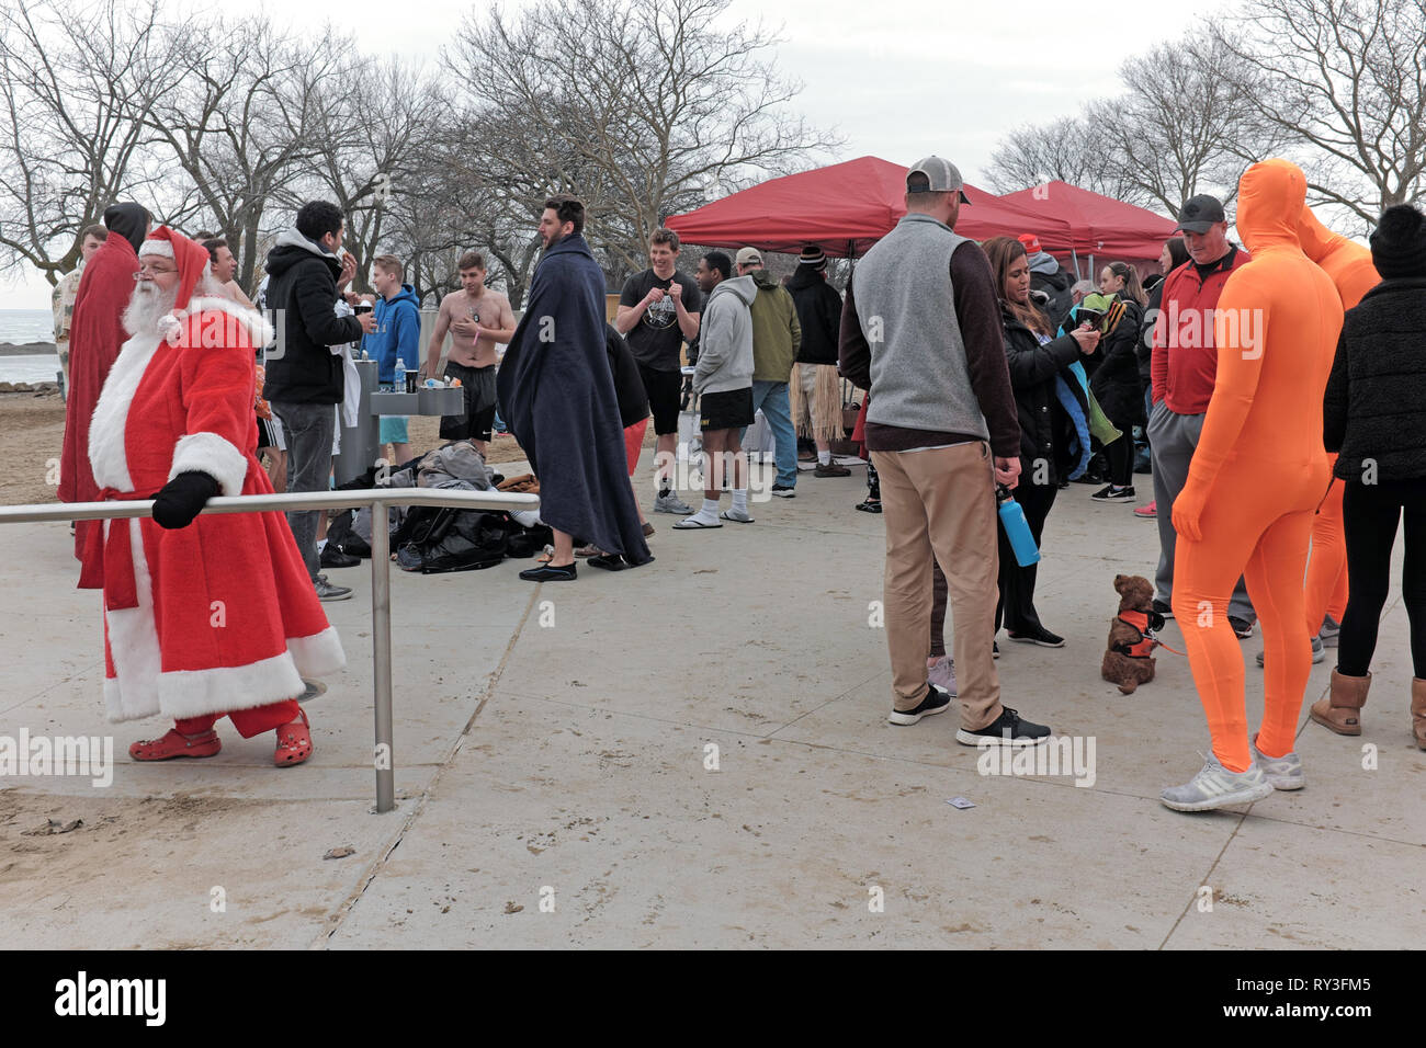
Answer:
[{"label": "red blanket draped around person standing behind Santa's back", "polygon": [[[94,502],[98,485],[90,472],[88,432],[104,379],[128,338],[124,307],[134,294],[138,255],[124,234],[111,231],[84,267],[70,322],[70,385],[64,401],[64,448],[60,452],[60,502]],[[90,530],[98,522],[74,526],[74,556],[83,558]],[[98,585],[87,579],[80,585]]]}]

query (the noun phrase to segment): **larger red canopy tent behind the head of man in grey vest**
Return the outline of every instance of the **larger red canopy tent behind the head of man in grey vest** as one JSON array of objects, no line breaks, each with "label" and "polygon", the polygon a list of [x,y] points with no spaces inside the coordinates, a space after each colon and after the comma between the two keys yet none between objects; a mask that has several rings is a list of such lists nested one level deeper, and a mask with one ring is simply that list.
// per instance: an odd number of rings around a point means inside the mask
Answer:
[{"label": "larger red canopy tent behind the head of man in grey vest", "polygon": [[[773,178],[672,215],[667,227],[689,244],[713,248],[756,247],[797,254],[819,245],[834,258],[860,258],[906,214],[906,171],[877,157],[858,157],[783,178]],[[1058,234],[1070,228],[1002,197],[965,187],[955,232],[971,240],[1017,237],[1021,232]]]}]

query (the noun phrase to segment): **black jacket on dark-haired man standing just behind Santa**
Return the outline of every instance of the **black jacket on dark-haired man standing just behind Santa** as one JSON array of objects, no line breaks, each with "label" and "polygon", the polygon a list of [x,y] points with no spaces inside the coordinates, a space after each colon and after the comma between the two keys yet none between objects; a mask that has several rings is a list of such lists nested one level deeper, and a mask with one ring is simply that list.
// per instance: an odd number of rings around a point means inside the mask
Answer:
[{"label": "black jacket on dark-haired man standing just behind Santa", "polygon": [[[267,355],[262,399],[278,404],[341,404],[342,356],[329,346],[362,337],[355,317],[338,317],[341,262],[297,230],[268,252],[267,307],[278,348]],[[278,312],[281,311],[281,312]]]}]

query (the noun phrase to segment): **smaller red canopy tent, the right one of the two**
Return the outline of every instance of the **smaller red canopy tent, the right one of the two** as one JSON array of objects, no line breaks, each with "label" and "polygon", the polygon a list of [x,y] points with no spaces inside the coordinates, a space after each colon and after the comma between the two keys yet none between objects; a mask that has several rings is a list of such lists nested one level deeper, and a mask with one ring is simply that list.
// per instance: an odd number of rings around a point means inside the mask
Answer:
[{"label": "smaller red canopy tent, the right one of the two", "polygon": [[[1174,235],[1171,218],[1070,183],[1045,183],[1000,200],[1040,215],[1037,221],[1044,224],[1028,228],[1040,237],[1040,247],[1061,260],[1088,257],[1091,268],[1095,258],[1156,264],[1164,241]],[[1070,238],[1062,234],[1065,228]]]}]

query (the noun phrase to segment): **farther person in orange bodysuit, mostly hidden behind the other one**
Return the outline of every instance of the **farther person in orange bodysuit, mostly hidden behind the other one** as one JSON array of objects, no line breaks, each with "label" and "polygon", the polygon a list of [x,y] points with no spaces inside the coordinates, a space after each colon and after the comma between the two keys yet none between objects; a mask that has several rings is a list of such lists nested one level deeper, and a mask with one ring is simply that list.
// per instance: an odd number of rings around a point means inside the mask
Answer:
[{"label": "farther person in orange bodysuit, mostly hidden behind the other one", "polygon": [[[1362,295],[1382,282],[1372,265],[1372,252],[1328,230],[1309,208],[1302,208],[1298,220],[1298,240],[1303,254],[1322,267],[1336,284],[1342,308],[1350,309]],[[1336,465],[1336,455],[1328,455],[1328,465]],[[1308,633],[1316,636],[1322,620],[1330,615],[1342,622],[1346,610],[1346,540],[1342,535],[1342,485],[1333,483],[1322,508],[1312,519],[1312,559],[1308,560],[1305,602]]]}]

